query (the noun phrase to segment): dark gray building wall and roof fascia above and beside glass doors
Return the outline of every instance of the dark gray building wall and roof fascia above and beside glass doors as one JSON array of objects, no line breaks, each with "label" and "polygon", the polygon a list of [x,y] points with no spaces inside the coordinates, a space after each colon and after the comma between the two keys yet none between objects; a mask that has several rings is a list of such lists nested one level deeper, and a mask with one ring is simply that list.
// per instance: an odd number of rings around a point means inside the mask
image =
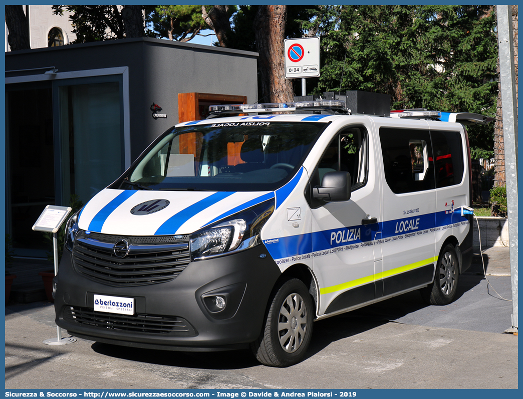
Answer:
[{"label": "dark gray building wall and roof fascia above and beside glass doors", "polygon": [[[162,39],[138,38],[5,53],[6,78],[43,74],[18,69],[54,66],[58,73],[129,68],[131,161],[178,123],[178,93],[247,96],[257,101],[257,53]],[[53,77],[49,76],[51,80]],[[152,118],[152,103],[167,118]]]}]

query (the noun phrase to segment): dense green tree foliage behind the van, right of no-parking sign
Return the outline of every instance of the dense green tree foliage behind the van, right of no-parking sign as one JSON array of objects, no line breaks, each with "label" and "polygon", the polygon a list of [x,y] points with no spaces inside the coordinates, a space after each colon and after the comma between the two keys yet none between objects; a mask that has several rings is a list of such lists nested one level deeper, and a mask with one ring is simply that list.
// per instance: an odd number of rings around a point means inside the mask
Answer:
[{"label": "dense green tree foliage behind the van, right of no-parking sign", "polygon": [[[306,25],[322,37],[314,93],[389,94],[393,109],[495,115],[492,6],[319,6]],[[469,129],[473,155],[492,154],[493,126]]]}]

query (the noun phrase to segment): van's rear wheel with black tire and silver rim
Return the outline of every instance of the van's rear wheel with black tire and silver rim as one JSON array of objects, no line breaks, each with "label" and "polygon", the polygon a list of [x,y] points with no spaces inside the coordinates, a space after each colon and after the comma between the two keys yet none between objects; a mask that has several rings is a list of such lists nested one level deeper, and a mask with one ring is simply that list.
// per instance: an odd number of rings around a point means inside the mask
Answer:
[{"label": "van's rear wheel with black tire and silver rim", "polygon": [[456,298],[458,280],[458,255],[454,246],[447,244],[439,254],[434,281],[422,290],[422,296],[431,305],[448,305]]}]

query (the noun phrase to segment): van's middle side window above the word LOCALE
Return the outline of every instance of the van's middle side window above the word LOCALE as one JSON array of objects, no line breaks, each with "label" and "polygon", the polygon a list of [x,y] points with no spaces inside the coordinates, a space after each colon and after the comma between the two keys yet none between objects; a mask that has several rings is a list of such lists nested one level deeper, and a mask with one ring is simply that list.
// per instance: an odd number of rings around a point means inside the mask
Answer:
[{"label": "van's middle side window above the word LOCALE", "polygon": [[381,127],[380,142],[385,180],[393,193],[435,188],[428,130]]}]

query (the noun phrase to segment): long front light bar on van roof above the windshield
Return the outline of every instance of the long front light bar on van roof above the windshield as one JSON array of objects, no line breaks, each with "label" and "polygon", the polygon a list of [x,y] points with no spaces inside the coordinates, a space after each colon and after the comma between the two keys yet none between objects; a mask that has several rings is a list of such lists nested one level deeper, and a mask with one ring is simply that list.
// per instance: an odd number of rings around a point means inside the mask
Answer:
[{"label": "long front light bar on van roof above the windshield", "polygon": [[345,101],[339,100],[316,100],[316,101],[297,101],[297,102],[272,102],[262,104],[227,104],[210,105],[209,113],[248,113],[248,112],[277,112],[277,111],[321,111],[321,110],[340,110],[345,111]]}]

